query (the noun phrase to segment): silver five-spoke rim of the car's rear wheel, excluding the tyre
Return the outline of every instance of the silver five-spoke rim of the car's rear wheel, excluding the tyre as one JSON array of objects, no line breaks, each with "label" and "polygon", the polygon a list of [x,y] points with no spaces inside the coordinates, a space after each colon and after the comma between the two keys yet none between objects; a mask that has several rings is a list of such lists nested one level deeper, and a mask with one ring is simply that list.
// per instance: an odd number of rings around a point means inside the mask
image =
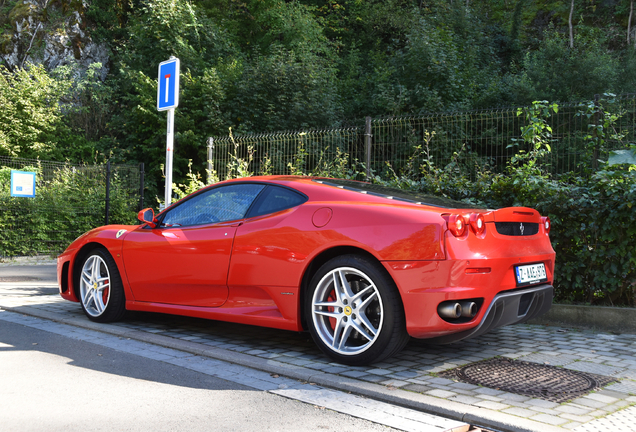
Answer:
[{"label": "silver five-spoke rim of the car's rear wheel, excluding the tyre", "polygon": [[316,286],[311,305],[316,332],[335,353],[363,353],[382,330],[380,292],[369,276],[355,268],[338,267],[327,273]]}]

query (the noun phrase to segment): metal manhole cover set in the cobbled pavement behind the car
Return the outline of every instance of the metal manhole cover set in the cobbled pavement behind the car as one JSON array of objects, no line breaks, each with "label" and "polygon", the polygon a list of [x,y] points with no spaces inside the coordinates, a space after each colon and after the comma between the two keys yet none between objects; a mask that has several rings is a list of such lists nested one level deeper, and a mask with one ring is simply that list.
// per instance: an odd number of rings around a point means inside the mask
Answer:
[{"label": "metal manhole cover set in the cobbled pavement behind the car", "polygon": [[583,396],[616,381],[603,375],[504,358],[471,363],[439,375],[556,403]]}]

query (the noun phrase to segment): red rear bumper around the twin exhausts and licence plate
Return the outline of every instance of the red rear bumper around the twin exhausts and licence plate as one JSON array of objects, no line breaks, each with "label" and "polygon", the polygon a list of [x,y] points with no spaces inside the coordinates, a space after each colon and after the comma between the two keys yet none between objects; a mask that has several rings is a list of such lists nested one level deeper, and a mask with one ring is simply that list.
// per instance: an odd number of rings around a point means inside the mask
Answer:
[{"label": "red rear bumper around the twin exhausts and licence plate", "polygon": [[[517,286],[515,267],[523,264],[544,263],[547,281],[527,287]],[[533,306],[526,315],[538,316],[549,309],[553,297],[554,252],[528,257],[501,257],[492,259],[443,260],[443,261],[402,261],[384,262],[385,268],[395,281],[406,318],[406,330],[417,339],[445,339],[449,342],[472,336],[481,327],[495,328],[507,323],[521,322],[518,316],[519,304],[527,302],[534,292],[543,293],[532,301],[543,306]],[[483,273],[472,273],[471,269],[488,268]],[[547,291],[546,291],[547,290]],[[549,291],[549,292],[548,292]],[[513,293],[513,294],[511,294]],[[515,299],[514,293],[519,294]],[[510,298],[508,298],[510,297]],[[506,299],[505,301],[503,299]],[[545,300],[541,300],[545,299]],[[443,302],[474,301],[479,304],[477,315],[471,319],[456,322],[443,319],[438,306]],[[514,301],[518,301],[515,306]],[[496,305],[496,306],[495,306]],[[503,311],[501,309],[503,308]],[[514,317],[510,318],[514,310]],[[523,312],[523,311],[522,311]],[[495,314],[489,318],[488,315]],[[495,320],[495,317],[499,317]],[[496,321],[489,325],[489,321]],[[483,332],[485,332],[484,330]],[[483,333],[480,331],[479,334]],[[454,334],[459,336],[453,337]],[[465,335],[465,336],[464,336]]]}]

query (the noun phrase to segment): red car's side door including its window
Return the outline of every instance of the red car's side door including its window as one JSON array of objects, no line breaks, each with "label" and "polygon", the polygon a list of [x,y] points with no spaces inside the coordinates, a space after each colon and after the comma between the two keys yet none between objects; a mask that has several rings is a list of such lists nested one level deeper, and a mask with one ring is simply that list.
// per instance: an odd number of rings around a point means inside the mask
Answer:
[{"label": "red car's side door including its window", "polygon": [[236,183],[206,189],[168,209],[156,228],[129,233],[123,258],[135,300],[221,306],[236,228],[263,188]]}]

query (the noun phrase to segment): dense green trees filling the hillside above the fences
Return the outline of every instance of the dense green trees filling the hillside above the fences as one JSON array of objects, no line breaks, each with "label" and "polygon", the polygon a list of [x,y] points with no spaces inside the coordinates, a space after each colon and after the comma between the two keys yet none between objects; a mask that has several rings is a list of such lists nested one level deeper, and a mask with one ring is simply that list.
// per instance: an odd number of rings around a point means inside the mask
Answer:
[{"label": "dense green trees filling the hillside above the fences", "polygon": [[[161,196],[166,116],[155,109],[156,74],[170,55],[183,72],[177,181],[186,178],[188,160],[203,172],[206,138],[229,127],[324,128],[364,116],[634,92],[631,5],[574,0],[570,47],[570,1],[58,0],[27,7],[5,0],[0,155],[144,162],[147,194]],[[28,30],[29,22],[43,25]],[[31,65],[61,23],[77,24],[109,53],[107,61]],[[75,57],[88,49],[84,39],[68,43],[77,45]]]}]

